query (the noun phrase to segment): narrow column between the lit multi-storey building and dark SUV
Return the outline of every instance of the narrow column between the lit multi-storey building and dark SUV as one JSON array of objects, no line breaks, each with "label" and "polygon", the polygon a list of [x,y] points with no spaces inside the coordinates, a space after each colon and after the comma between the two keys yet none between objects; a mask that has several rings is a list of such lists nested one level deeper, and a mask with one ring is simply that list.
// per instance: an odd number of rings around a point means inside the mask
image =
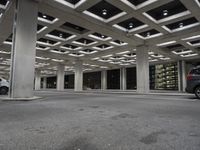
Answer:
[{"label": "narrow column between the lit multi-storey building and dark SUV", "polygon": [[178,90],[185,92],[186,88],[186,64],[185,61],[178,61]]}]

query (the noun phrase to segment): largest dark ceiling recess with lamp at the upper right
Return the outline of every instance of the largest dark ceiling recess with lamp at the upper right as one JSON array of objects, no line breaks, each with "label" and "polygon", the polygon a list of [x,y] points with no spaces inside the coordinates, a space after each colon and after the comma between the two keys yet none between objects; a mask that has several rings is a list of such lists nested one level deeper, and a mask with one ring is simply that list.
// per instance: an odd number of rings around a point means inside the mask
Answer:
[{"label": "largest dark ceiling recess with lamp at the upper right", "polygon": [[[148,14],[153,19],[158,21],[158,20],[168,18],[170,16],[177,15],[177,14],[180,14],[180,13],[183,13],[183,12],[186,12],[186,11],[187,11],[187,8],[179,0],[174,0],[172,2],[165,4],[165,5],[162,5],[160,7],[155,8],[155,9],[149,10],[149,11],[146,12],[146,14]],[[185,14],[187,15],[188,13],[185,13]],[[182,14],[181,16],[183,16],[183,15],[184,14]]]}]

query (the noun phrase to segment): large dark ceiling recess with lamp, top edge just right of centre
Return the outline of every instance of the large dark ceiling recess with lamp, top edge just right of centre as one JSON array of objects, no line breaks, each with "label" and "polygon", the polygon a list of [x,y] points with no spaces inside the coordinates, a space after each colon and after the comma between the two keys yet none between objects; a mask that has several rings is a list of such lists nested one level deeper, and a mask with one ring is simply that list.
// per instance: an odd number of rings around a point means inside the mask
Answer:
[{"label": "large dark ceiling recess with lamp, top edge just right of centre", "polygon": [[105,0],[100,1],[83,13],[104,22],[109,22],[126,14],[121,9],[113,6]]}]

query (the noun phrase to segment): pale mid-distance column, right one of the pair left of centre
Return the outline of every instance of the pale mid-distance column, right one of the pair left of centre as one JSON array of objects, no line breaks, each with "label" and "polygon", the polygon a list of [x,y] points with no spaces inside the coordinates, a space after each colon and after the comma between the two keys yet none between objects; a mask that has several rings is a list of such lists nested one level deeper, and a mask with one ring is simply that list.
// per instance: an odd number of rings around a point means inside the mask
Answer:
[{"label": "pale mid-distance column, right one of the pair left of centre", "polygon": [[83,90],[83,62],[81,60],[77,60],[74,69],[75,69],[74,90],[82,91]]}]

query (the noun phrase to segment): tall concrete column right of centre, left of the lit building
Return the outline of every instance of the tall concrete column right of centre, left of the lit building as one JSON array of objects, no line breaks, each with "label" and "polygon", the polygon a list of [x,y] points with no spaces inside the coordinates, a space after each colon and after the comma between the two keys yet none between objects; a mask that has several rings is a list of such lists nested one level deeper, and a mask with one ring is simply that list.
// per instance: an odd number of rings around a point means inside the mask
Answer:
[{"label": "tall concrete column right of centre, left of the lit building", "polygon": [[137,47],[137,92],[149,93],[149,55],[148,47],[145,45]]}]

